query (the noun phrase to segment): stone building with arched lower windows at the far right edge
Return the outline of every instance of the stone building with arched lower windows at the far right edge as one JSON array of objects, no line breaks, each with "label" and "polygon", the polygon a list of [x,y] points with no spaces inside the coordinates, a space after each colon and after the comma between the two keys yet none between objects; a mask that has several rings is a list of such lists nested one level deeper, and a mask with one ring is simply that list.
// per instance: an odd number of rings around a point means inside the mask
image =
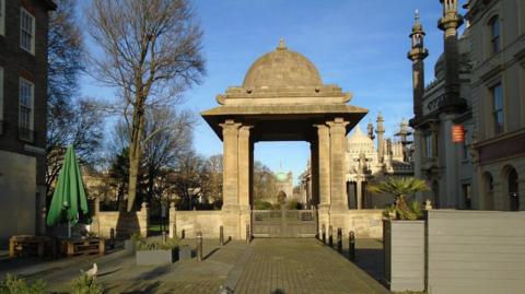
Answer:
[{"label": "stone building with arched lower windows at the far right edge", "polygon": [[525,210],[525,1],[471,0],[478,207]]}]

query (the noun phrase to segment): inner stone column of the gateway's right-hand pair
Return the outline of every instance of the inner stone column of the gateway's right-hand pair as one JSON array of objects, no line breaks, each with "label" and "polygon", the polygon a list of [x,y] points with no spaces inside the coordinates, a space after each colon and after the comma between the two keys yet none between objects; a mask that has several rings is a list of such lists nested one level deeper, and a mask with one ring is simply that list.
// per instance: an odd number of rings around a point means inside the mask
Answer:
[{"label": "inner stone column of the gateway's right-hand pair", "polygon": [[317,128],[317,163],[318,170],[318,197],[319,208],[330,205],[330,133],[325,125],[316,125]]}]

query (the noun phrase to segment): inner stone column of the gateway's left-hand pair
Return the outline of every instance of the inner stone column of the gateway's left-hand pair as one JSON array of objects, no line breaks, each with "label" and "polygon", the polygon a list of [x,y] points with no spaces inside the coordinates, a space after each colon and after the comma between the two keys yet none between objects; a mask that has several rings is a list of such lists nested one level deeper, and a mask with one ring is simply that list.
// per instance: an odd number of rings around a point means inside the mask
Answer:
[{"label": "inner stone column of the gateway's left-hand pair", "polygon": [[242,126],[238,129],[238,204],[243,210],[249,210],[250,128]]}]

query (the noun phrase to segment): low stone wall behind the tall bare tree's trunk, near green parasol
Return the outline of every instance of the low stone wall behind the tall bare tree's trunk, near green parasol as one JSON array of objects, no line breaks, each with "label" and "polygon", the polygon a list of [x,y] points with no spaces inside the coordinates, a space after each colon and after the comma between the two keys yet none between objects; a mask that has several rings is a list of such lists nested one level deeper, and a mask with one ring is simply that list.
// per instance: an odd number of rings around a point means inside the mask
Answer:
[{"label": "low stone wall behind the tall bare tree's trunk, near green parasol", "polygon": [[142,204],[140,211],[97,211],[93,216],[91,231],[101,237],[108,238],[112,228],[115,230],[116,238],[128,238],[133,233],[140,233],[148,236],[149,211],[145,204]]}]

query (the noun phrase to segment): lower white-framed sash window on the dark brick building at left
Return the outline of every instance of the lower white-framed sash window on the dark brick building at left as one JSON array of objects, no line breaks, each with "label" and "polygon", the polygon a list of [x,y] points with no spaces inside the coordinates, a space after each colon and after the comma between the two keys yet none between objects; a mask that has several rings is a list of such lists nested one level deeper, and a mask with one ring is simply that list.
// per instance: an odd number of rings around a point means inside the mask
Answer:
[{"label": "lower white-framed sash window on the dark brick building at left", "polygon": [[33,141],[34,89],[32,82],[20,79],[19,132],[20,139],[30,142]]}]

